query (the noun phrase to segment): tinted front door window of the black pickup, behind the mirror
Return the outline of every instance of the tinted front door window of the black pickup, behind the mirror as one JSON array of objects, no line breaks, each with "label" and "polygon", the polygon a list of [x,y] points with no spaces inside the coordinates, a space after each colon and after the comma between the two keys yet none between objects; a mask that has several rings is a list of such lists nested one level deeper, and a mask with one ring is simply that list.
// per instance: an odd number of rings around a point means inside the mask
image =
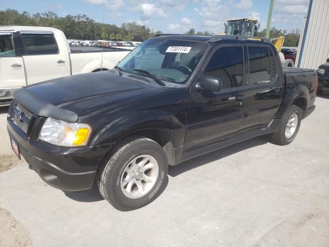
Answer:
[{"label": "tinted front door window of the black pickup, behind the mirror", "polygon": [[243,49],[242,47],[222,47],[215,51],[205,75],[221,78],[223,89],[242,85]]}]

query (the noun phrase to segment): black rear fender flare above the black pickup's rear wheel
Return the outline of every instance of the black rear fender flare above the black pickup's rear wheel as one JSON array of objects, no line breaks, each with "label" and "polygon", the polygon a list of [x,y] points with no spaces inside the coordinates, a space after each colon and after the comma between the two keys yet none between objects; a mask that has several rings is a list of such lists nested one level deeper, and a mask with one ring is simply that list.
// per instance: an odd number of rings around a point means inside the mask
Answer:
[{"label": "black rear fender flare above the black pickup's rear wheel", "polygon": [[284,112],[299,98],[303,98],[306,101],[305,107],[309,102],[309,90],[304,85],[290,86],[289,91],[284,95],[284,99],[281,103],[276,118],[281,118]]}]

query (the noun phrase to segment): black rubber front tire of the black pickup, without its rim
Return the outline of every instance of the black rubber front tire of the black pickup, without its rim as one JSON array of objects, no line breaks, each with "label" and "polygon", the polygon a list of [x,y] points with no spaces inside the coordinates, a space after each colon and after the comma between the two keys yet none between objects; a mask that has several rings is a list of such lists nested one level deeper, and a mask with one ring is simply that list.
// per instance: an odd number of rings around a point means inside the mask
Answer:
[{"label": "black rubber front tire of the black pickup, without its rim", "polygon": [[[126,197],[121,190],[121,178],[125,167],[139,155],[151,155],[158,163],[157,180],[147,194],[132,199]],[[166,186],[168,161],[162,147],[149,138],[140,136],[124,139],[112,152],[111,157],[98,171],[97,185],[101,195],[111,205],[121,211],[134,210],[154,201]]]}]

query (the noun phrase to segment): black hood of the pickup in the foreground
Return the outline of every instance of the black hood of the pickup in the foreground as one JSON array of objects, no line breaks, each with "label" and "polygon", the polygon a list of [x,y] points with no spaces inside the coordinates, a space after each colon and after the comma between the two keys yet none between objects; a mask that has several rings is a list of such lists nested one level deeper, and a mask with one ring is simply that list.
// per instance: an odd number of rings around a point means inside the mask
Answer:
[{"label": "black hood of the pickup in the foreground", "polygon": [[102,104],[161,90],[161,86],[143,79],[109,72],[88,73],[41,82],[28,86],[27,90],[50,104],[79,114]]}]

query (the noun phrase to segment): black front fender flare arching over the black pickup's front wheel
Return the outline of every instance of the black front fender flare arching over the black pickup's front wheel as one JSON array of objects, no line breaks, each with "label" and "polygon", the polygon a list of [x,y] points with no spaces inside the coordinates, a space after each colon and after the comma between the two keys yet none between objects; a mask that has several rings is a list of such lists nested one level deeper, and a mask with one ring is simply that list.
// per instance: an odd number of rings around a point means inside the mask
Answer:
[{"label": "black front fender flare arching over the black pickup's front wheel", "polygon": [[175,116],[159,110],[143,110],[109,122],[95,135],[92,145],[113,144],[137,131],[151,129],[166,132],[174,147],[184,144],[185,126]]}]

